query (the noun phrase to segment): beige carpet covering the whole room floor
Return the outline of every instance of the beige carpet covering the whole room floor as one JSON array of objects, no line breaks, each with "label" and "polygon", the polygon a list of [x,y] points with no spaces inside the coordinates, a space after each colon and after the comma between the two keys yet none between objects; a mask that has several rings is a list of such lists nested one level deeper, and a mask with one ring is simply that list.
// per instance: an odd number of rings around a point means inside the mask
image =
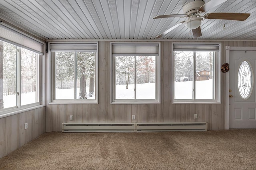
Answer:
[{"label": "beige carpet covering the whole room floor", "polygon": [[218,169],[256,169],[256,129],[45,133],[0,159],[0,170]]}]

